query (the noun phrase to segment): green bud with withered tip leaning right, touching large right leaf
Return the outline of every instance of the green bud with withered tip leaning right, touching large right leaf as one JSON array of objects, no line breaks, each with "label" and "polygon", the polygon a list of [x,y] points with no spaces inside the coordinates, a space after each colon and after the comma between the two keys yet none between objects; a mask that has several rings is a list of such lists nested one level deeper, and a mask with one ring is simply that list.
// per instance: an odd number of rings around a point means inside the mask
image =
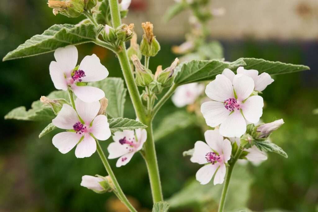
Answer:
[{"label": "green bud with withered tip leaning right, touching large right leaf", "polygon": [[[175,71],[176,66],[179,63],[179,59],[176,58],[175,61],[170,65],[170,67],[166,68],[165,70],[160,71],[160,68],[157,68],[155,79],[162,84],[162,87],[169,87],[173,83],[173,73]],[[159,67],[159,66],[158,66]]]}]

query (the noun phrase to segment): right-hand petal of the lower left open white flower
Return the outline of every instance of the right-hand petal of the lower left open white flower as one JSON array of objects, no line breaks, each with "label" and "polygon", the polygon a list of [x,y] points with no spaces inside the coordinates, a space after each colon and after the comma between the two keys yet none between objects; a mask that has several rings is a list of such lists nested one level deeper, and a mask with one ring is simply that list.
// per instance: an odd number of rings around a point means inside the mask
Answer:
[{"label": "right-hand petal of the lower left open white flower", "polygon": [[107,117],[105,115],[96,116],[96,118],[93,120],[93,125],[90,128],[90,132],[98,140],[107,140],[112,135],[109,129]]}]

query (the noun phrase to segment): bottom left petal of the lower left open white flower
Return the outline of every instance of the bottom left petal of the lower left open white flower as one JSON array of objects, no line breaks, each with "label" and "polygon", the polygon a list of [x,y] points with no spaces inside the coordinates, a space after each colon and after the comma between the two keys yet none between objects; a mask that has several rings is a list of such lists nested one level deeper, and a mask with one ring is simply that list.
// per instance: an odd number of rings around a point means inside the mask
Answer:
[{"label": "bottom left petal of the lower left open white flower", "polygon": [[75,147],[81,137],[82,135],[74,132],[62,132],[54,135],[52,143],[61,153],[65,154]]}]

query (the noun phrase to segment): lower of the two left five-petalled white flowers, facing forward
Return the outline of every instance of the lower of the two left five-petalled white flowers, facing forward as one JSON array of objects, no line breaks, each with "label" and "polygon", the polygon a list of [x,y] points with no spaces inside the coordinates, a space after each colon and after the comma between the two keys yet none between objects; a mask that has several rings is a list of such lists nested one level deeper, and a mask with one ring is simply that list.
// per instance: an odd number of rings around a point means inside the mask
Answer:
[{"label": "lower of the two left five-petalled white flowers, facing forward", "polygon": [[96,141],[92,135],[99,140],[107,140],[111,136],[109,124],[105,115],[96,116],[100,110],[99,101],[86,103],[76,99],[75,107],[77,113],[73,107],[64,104],[59,114],[52,120],[56,127],[73,131],[56,134],[52,142],[63,154],[77,145],[75,156],[89,157],[96,151]]}]

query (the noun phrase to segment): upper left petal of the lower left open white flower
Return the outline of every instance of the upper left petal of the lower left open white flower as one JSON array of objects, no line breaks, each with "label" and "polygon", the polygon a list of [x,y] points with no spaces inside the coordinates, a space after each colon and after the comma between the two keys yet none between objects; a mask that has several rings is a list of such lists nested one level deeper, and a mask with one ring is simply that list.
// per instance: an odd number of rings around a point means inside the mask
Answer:
[{"label": "upper left petal of the lower left open white flower", "polygon": [[79,122],[79,117],[73,107],[64,104],[52,123],[61,129],[73,130],[73,125]]}]

